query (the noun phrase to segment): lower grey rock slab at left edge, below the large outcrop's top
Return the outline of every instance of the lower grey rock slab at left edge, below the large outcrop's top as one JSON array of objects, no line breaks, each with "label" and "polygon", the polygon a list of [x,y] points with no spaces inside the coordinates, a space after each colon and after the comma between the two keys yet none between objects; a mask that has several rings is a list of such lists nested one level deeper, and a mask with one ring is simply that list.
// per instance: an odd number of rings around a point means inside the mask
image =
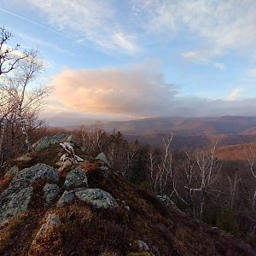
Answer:
[{"label": "lower grey rock slab at left edge, below the large outcrop's top", "polygon": [[15,218],[27,210],[32,198],[32,187],[20,189],[17,193],[7,194],[0,201],[0,223]]}]

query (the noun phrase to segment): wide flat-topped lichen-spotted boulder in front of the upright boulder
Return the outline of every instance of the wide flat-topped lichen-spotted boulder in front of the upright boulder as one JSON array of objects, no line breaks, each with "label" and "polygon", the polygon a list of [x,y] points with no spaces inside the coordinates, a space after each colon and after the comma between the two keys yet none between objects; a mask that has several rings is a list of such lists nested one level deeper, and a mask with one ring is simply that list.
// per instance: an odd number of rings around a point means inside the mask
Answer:
[{"label": "wide flat-topped lichen-spotted boulder in front of the upright boulder", "polygon": [[108,192],[102,189],[84,189],[75,192],[76,197],[81,201],[87,201],[96,208],[118,207],[117,202]]}]

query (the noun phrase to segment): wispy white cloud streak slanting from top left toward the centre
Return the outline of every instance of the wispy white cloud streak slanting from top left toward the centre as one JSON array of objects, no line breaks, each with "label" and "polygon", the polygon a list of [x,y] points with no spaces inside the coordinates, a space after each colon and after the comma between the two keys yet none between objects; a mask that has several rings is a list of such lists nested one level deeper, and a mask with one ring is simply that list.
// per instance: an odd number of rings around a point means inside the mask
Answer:
[{"label": "wispy white cloud streak slanting from top left toward the centre", "polygon": [[[72,38],[94,42],[101,49],[134,54],[137,37],[122,29],[119,11],[109,1],[26,0],[49,19],[51,26]],[[61,8],[60,8],[61,6]]]}]

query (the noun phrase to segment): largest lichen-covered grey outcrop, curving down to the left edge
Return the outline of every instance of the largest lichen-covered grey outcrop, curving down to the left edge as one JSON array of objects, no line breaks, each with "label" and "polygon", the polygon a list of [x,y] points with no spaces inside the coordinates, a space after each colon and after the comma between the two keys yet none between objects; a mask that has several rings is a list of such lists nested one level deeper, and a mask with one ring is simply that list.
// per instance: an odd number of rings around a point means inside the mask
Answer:
[{"label": "largest lichen-covered grey outcrop, curving down to the left edge", "polygon": [[25,212],[32,199],[32,184],[38,180],[57,182],[57,171],[48,165],[38,164],[17,172],[9,188],[0,195],[0,223]]}]

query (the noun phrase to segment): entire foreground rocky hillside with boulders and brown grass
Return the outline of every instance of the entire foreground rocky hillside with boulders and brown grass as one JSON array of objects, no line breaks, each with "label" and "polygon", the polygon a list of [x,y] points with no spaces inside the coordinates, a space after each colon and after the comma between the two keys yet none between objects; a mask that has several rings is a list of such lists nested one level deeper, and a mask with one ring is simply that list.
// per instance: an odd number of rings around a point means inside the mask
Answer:
[{"label": "entire foreground rocky hillside with boulders and brown grass", "polygon": [[103,154],[64,167],[61,155],[48,143],[2,172],[1,255],[255,255],[126,182]]}]

